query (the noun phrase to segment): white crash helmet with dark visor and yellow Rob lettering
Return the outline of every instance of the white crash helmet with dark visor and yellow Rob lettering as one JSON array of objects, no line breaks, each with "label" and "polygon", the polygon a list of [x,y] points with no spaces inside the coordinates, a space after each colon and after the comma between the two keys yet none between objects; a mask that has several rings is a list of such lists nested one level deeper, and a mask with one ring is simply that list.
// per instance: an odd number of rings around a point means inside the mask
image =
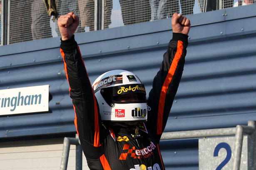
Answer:
[{"label": "white crash helmet with dark visor and yellow Rob lettering", "polygon": [[141,80],[127,70],[112,70],[92,84],[103,121],[147,120],[146,90]]}]

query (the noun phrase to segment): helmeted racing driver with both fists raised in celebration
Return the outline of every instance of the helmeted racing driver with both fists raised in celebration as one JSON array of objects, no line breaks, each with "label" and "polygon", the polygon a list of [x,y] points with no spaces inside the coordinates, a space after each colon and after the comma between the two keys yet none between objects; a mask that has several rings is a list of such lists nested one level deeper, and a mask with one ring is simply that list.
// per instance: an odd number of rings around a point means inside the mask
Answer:
[{"label": "helmeted racing driver with both fists raised in celebration", "polygon": [[146,100],[140,79],[111,70],[90,83],[74,32],[73,12],[58,19],[60,52],[75,109],[75,126],[90,170],[164,170],[159,141],[184,68],[190,21],[174,13],[173,37]]}]

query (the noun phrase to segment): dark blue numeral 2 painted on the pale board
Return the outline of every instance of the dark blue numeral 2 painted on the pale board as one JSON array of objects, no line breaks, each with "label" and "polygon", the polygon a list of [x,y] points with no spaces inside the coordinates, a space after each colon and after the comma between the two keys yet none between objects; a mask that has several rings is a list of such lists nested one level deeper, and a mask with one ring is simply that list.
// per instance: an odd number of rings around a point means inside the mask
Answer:
[{"label": "dark blue numeral 2 painted on the pale board", "polygon": [[230,148],[229,144],[225,143],[225,142],[219,143],[216,146],[216,148],[214,149],[214,156],[218,156],[219,155],[219,150],[221,148],[226,149],[227,155],[226,155],[226,158],[222,161],[222,163],[219,164],[219,166],[216,168],[216,170],[221,170],[221,168],[223,168],[229,162],[229,160],[231,158],[231,148]]}]

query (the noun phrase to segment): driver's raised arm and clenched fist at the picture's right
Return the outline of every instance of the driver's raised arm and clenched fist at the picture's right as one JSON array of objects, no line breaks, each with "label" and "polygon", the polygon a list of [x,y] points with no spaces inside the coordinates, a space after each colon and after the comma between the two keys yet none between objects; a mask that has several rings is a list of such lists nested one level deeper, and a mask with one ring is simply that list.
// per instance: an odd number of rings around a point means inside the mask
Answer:
[{"label": "driver's raised arm and clenched fist at the picture's right", "polygon": [[148,100],[152,111],[148,114],[147,123],[152,127],[157,140],[160,140],[164,131],[183,72],[190,21],[181,14],[174,13],[171,25],[173,38],[164,53],[162,66],[154,78]]}]

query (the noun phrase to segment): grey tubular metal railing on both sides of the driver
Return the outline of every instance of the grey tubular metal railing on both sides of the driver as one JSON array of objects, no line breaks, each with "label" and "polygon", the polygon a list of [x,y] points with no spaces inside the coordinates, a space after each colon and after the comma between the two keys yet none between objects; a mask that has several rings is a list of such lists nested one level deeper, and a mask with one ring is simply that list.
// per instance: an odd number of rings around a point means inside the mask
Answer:
[{"label": "grey tubular metal railing on both sides of the driver", "polygon": [[[256,121],[248,121],[248,126],[237,125],[234,128],[164,132],[161,140],[235,135],[236,147],[233,170],[239,170],[243,138],[245,134],[248,134],[248,151],[250,151],[248,154],[248,165],[251,168],[250,170],[256,170]],[[82,170],[82,148],[78,138],[64,138],[60,170],[67,170],[67,161],[71,144],[76,145],[76,170]]]}]

